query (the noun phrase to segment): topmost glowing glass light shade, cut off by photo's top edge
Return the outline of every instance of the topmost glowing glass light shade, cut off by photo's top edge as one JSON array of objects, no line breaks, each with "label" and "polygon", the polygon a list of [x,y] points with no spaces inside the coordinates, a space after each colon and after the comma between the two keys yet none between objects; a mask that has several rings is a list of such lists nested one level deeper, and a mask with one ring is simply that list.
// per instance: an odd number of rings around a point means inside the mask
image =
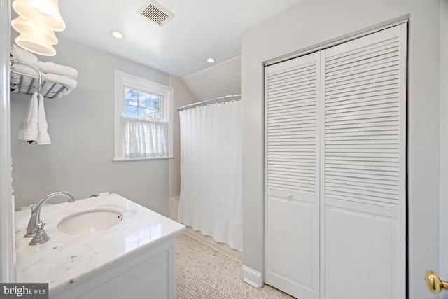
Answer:
[{"label": "topmost glowing glass light shade, cut off by photo's top edge", "polygon": [[22,18],[54,31],[65,29],[57,0],[14,0],[13,8]]}]

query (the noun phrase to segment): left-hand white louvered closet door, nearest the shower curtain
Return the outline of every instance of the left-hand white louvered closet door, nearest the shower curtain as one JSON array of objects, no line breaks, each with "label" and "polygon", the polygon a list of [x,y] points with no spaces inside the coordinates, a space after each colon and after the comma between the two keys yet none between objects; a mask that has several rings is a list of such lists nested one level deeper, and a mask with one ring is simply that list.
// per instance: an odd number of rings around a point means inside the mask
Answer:
[{"label": "left-hand white louvered closet door, nearest the shower curtain", "polygon": [[318,298],[319,53],[265,68],[265,281]]}]

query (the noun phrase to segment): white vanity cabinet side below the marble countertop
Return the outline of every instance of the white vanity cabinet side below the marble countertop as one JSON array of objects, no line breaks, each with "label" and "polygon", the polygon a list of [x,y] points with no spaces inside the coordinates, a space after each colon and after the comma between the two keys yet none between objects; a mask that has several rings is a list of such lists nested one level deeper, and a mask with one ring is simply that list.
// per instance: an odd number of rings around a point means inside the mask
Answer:
[{"label": "white vanity cabinet side below the marble countertop", "polygon": [[170,239],[58,292],[50,291],[50,298],[176,298],[175,258],[175,239]]}]

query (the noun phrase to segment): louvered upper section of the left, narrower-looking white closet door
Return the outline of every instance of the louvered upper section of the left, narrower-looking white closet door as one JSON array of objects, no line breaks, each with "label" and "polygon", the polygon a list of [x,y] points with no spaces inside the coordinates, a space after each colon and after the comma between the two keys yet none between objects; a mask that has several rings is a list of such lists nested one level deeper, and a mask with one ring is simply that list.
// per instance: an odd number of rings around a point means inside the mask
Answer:
[{"label": "louvered upper section of the left, narrower-looking white closet door", "polygon": [[267,74],[268,189],[316,195],[316,57]]}]

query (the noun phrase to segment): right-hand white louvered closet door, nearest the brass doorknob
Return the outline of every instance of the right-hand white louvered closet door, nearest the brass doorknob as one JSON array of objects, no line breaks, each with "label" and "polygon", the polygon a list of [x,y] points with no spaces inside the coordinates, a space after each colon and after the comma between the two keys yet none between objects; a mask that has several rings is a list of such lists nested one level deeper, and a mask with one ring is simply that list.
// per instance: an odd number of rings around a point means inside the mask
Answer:
[{"label": "right-hand white louvered closet door, nearest the brass doorknob", "polygon": [[405,298],[406,25],[322,51],[324,298]]}]

